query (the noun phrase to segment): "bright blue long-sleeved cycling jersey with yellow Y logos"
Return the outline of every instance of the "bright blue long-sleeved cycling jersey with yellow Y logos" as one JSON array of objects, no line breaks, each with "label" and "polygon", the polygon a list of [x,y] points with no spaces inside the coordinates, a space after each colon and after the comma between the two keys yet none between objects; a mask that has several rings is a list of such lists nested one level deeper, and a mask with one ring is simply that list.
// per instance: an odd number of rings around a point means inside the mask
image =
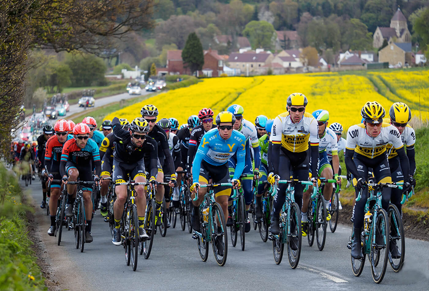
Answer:
[{"label": "bright blue long-sleeved cycling jersey with yellow Y logos", "polygon": [[245,166],[245,142],[245,136],[236,130],[227,140],[221,138],[216,128],[206,132],[193,160],[193,183],[198,183],[202,160],[214,166],[225,165],[234,153],[237,153],[237,165],[233,179],[238,179]]}]

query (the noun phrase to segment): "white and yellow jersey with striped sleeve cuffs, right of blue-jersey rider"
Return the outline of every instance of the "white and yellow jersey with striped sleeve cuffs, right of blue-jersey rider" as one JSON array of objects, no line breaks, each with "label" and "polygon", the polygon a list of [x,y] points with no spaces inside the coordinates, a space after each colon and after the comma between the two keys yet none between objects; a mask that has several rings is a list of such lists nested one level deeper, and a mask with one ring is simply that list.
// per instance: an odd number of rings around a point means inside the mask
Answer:
[{"label": "white and yellow jersey with striped sleeve cuffs, right of blue-jersey rider", "polygon": [[308,150],[308,140],[311,145],[319,145],[319,126],[313,115],[305,112],[298,123],[292,122],[289,112],[275,118],[270,137],[273,144],[281,144],[293,153],[300,153]]}]

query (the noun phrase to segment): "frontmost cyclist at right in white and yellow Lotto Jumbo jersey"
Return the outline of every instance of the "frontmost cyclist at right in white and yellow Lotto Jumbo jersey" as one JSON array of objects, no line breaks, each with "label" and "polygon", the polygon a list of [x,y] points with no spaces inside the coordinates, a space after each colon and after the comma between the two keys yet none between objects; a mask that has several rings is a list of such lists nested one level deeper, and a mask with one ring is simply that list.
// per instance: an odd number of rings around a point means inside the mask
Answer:
[{"label": "frontmost cyclist at right in white and yellow Lotto Jumbo jersey", "polygon": [[[363,123],[350,126],[347,131],[346,152],[344,161],[346,167],[353,175],[353,186],[356,196],[360,190],[362,198],[357,201],[353,208],[353,232],[351,256],[356,259],[363,258],[361,248],[361,228],[368,197],[368,168],[372,168],[377,183],[391,183],[389,162],[387,161],[386,146],[391,143],[396,149],[404,176],[403,193],[411,189],[409,180],[409,163],[405,154],[404,145],[398,129],[388,123],[383,123],[385,115],[384,108],[376,101],[366,102],[361,113],[365,119]],[[387,211],[389,207],[391,188],[383,189],[381,206]]]}]

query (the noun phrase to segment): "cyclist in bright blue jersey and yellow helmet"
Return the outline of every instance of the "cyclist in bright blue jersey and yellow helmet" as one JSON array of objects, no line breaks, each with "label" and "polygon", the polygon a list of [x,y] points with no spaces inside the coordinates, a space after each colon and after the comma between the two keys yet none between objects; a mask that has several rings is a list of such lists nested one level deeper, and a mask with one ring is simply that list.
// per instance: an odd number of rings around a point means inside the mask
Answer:
[{"label": "cyclist in bright blue jersey and yellow helmet", "polygon": [[[222,111],[216,116],[217,129],[209,130],[202,136],[202,141],[198,146],[195,158],[193,160],[192,178],[193,184],[190,187],[192,198],[195,198],[197,185],[207,184],[209,179],[213,183],[227,183],[230,180],[228,171],[228,160],[237,152],[237,166],[232,180],[234,189],[240,187],[239,177],[245,168],[245,136],[239,131],[233,130],[235,116],[231,112]],[[221,204],[224,216],[228,213],[228,198],[231,194],[229,186],[215,187],[215,200]],[[207,193],[207,188],[198,189],[198,200],[193,201],[193,210],[191,216],[192,228],[199,231],[199,205],[204,200],[204,195]],[[221,232],[221,227],[218,225],[218,231]],[[225,232],[226,233],[226,232]],[[219,255],[224,255],[223,237],[216,237],[215,244],[218,247]]]}]

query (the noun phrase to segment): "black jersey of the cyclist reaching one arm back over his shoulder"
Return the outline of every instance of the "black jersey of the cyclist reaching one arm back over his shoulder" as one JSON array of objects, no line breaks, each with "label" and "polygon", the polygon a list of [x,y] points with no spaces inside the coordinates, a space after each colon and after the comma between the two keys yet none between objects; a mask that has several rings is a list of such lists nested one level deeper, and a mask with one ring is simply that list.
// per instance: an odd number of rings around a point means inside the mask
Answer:
[{"label": "black jersey of the cyclist reaching one arm back over his shoulder", "polygon": [[114,117],[112,123],[113,134],[115,135],[115,151],[113,152],[114,160],[124,162],[125,164],[133,164],[147,156],[151,161],[151,168],[147,170],[151,176],[156,177],[158,172],[157,142],[150,136],[147,136],[142,146],[137,147],[131,140],[130,132],[121,128],[121,123],[119,122],[118,117]]}]

